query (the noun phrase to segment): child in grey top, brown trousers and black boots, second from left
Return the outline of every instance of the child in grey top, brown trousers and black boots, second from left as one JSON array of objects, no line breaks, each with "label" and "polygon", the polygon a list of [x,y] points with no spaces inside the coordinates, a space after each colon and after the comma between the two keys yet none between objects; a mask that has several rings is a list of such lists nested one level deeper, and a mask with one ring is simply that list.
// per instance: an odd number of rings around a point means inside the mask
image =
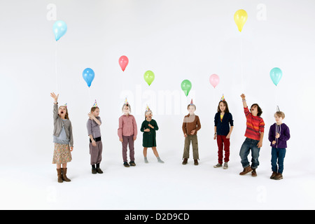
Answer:
[{"label": "child in grey top, brown trousers and black boots, second from left", "polygon": [[[99,107],[95,100],[90,113],[87,114],[89,119],[87,120],[87,134],[90,137],[90,164],[92,165],[92,174],[103,174],[102,169],[99,167],[99,164],[102,161],[102,151],[103,144],[101,139],[101,129],[102,120],[99,117]],[[95,167],[96,165],[96,167]]]}]

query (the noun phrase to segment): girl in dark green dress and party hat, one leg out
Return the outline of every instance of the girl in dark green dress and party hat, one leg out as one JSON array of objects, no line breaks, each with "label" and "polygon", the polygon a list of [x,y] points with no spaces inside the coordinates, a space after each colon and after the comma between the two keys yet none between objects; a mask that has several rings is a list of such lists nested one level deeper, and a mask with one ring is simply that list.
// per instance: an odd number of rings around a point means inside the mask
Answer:
[{"label": "girl in dark green dress and party hat, one leg out", "polygon": [[144,132],[144,139],[142,141],[142,146],[144,146],[144,162],[148,163],[148,159],[146,158],[146,153],[148,148],[152,148],[152,151],[158,162],[164,163],[159,156],[158,151],[156,150],[156,133],[155,131],[159,130],[158,124],[155,120],[152,119],[153,113],[152,111],[146,107],[146,112],[144,113],[145,120],[141,125],[141,132]]}]

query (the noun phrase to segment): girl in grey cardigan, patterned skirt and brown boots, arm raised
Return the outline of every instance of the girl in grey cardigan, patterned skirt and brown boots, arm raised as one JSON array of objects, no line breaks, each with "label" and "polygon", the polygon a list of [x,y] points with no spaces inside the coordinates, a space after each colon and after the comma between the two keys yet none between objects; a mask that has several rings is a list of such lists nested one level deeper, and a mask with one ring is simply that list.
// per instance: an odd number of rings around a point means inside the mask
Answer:
[{"label": "girl in grey cardigan, patterned skirt and brown boots, arm raised", "polygon": [[[53,106],[53,118],[54,118],[54,132],[53,142],[55,143],[54,155],[52,157],[52,164],[57,165],[57,181],[62,183],[63,181],[71,181],[67,176],[67,162],[71,162],[71,151],[73,151],[73,136],[72,125],[69,120],[69,114],[67,106],[59,106],[58,97],[59,94],[54,92],[50,93],[50,97],[54,99]],[[70,145],[70,146],[69,146]]]}]

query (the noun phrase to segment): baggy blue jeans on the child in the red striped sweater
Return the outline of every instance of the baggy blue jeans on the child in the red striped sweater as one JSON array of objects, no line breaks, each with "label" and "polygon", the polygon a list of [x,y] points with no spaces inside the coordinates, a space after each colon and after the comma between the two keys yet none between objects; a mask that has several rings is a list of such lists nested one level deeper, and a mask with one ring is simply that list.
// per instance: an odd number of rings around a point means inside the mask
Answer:
[{"label": "baggy blue jeans on the child in the red striped sweater", "polygon": [[256,169],[259,165],[258,157],[260,148],[257,147],[259,140],[246,138],[244,143],[241,145],[241,151],[239,156],[241,157],[241,165],[243,168],[249,167],[247,156],[251,151],[251,169]]}]

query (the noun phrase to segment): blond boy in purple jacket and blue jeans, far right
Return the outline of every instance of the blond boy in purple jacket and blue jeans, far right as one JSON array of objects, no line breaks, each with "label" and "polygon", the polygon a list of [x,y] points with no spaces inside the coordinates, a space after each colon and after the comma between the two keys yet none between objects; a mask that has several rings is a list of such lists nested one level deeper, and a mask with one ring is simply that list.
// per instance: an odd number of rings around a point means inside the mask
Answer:
[{"label": "blond boy in purple jacket and blue jeans, far right", "polygon": [[[286,141],[290,139],[290,130],[288,126],[282,123],[284,113],[276,111],[274,113],[276,123],[270,126],[269,129],[269,141],[272,146],[272,176],[270,179],[281,180],[283,179],[283,160],[286,156]],[[279,167],[276,166],[276,160],[278,160]]]}]

